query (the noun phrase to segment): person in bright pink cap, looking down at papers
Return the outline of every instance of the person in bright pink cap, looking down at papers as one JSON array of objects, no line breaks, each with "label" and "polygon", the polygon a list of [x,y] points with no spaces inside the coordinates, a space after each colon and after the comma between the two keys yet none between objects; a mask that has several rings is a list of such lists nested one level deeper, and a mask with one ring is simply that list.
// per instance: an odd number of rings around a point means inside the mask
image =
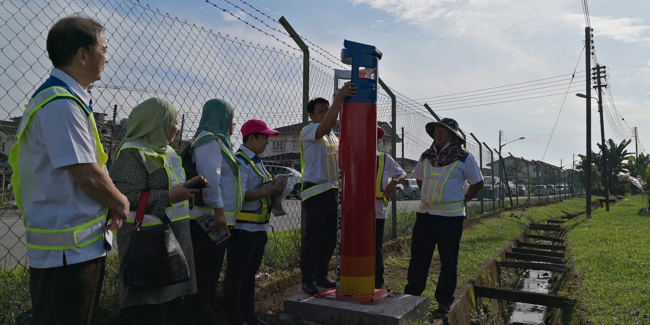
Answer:
[{"label": "person in bright pink cap, looking down at papers", "polygon": [[[263,153],[268,136],[279,135],[262,120],[248,120],[241,128],[244,144],[235,157],[240,166],[244,203],[235,227],[230,231],[227,253],[224,296],[228,324],[267,324],[255,315],[253,298],[255,274],[262,263],[266,246],[266,231],[271,215],[270,196],[281,193],[286,181],[272,180],[257,155]],[[260,188],[270,182],[268,187]]]}]

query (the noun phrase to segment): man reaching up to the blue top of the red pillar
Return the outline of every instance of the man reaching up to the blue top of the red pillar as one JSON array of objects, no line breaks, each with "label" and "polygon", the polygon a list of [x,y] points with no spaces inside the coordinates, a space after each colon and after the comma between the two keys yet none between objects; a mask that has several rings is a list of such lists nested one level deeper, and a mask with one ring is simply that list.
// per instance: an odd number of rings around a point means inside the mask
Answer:
[{"label": "man reaching up to the blue top of the red pillar", "polygon": [[318,287],[333,288],[328,266],[336,247],[337,188],[339,180],[339,136],[332,131],[341,101],[356,94],[357,88],[344,85],[330,102],[316,98],[307,104],[311,124],[300,133],[302,162],[302,206],[305,230],[300,245],[302,291],[318,293]]}]

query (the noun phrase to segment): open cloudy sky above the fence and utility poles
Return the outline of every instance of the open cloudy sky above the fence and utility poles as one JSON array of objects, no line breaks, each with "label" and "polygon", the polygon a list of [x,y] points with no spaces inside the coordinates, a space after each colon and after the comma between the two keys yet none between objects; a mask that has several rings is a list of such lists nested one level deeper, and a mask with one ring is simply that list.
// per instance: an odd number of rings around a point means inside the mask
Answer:
[{"label": "open cloudy sky above the fence and utility poles", "polygon": [[[183,6],[179,1],[141,2],[149,2],[162,12],[173,12],[179,19],[222,34],[253,43],[281,45],[204,1],[195,1],[196,5],[184,1],[186,5]],[[246,12],[226,1],[211,2],[252,25],[272,31],[246,14],[257,13],[240,1],[231,3]],[[410,99],[458,94],[558,75],[569,74],[564,78],[570,78],[576,67],[577,72],[585,70],[584,55],[580,55],[585,21],[578,0],[251,0],[247,3],[272,18],[284,16],[298,34],[334,57],[339,57],[344,39],[375,45],[383,53],[380,77]],[[641,144],[650,148],[650,3],[591,0],[588,6],[597,61],[608,67],[614,103],[604,99],[606,110],[610,111],[605,116],[606,139],[620,142],[621,138],[629,138],[632,134],[628,127],[638,127]],[[281,29],[277,23],[266,22]],[[292,44],[289,38],[283,40]],[[492,148],[498,146],[499,130],[507,132],[503,143],[527,135],[527,139],[504,146],[503,151],[536,160],[545,155],[545,161],[560,165],[562,159],[562,164],[567,166],[573,153],[585,152],[585,99],[575,96],[585,91],[584,73],[576,75],[580,77],[575,77],[574,88],[566,97],[547,96],[452,110],[437,110],[435,99],[428,101],[432,101],[429,105],[439,116],[456,119],[462,129],[471,131]],[[556,92],[528,97],[564,94],[565,87],[567,85],[554,88],[558,89]],[[597,95],[592,91],[591,96]],[[418,102],[424,101],[427,99]],[[619,115],[614,112],[614,105]],[[596,142],[600,142],[600,136],[595,100],[591,122],[592,147],[597,151]],[[547,148],[551,133],[554,136]],[[634,151],[634,141],[629,148]]]}]

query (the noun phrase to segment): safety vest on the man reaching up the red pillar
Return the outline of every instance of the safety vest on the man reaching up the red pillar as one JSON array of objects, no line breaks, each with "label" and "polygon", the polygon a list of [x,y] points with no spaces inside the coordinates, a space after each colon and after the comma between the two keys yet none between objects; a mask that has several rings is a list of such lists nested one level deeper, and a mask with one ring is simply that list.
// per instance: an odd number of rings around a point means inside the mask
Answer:
[{"label": "safety vest on the man reaching up the red pillar", "polygon": [[[305,131],[305,128],[302,129],[302,132]],[[302,148],[302,132],[300,133],[300,166],[301,172],[304,175],[305,173],[305,153]],[[331,188],[339,187],[339,137],[334,133],[328,133],[320,138],[323,143],[323,149],[325,150],[327,156],[327,181],[313,187],[304,188],[305,181],[302,177],[302,201],[311,198],[312,196],[318,195],[326,190]]]}]

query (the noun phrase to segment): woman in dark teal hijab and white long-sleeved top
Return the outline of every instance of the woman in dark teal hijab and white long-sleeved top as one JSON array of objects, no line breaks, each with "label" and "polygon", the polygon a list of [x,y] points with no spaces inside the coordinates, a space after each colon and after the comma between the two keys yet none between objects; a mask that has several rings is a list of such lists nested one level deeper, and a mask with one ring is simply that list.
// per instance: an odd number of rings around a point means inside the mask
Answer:
[{"label": "woman in dark teal hijab and white long-sleeved top", "polygon": [[[188,151],[196,164],[196,172],[205,175],[211,184],[195,197],[192,214],[213,213],[212,229],[226,231],[227,235],[230,235],[229,227],[235,224],[243,200],[239,164],[230,140],[234,129],[233,107],[224,99],[210,99],[203,105],[203,115]],[[187,324],[215,324],[216,287],[229,240],[215,245],[196,222],[192,222],[190,228],[198,292],[185,298],[184,320]]]}]

